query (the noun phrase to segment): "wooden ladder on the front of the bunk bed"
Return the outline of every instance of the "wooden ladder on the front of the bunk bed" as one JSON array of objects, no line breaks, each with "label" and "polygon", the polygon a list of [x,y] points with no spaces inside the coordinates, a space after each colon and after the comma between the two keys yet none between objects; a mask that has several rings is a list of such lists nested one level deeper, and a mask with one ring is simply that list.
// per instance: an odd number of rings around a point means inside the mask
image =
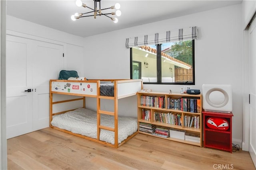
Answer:
[{"label": "wooden ladder on the front of the bunk bed", "polygon": [[[100,99],[114,100],[114,112],[105,111],[100,109]],[[100,124],[100,114],[112,115],[114,116],[114,128],[103,126]],[[97,95],[97,139],[100,140],[100,129],[105,129],[108,131],[113,131],[115,134],[115,144],[114,147],[118,148],[118,96],[117,96],[117,83],[114,81],[114,97],[110,96],[100,96],[100,87]],[[111,144],[109,144],[112,146]]]}]

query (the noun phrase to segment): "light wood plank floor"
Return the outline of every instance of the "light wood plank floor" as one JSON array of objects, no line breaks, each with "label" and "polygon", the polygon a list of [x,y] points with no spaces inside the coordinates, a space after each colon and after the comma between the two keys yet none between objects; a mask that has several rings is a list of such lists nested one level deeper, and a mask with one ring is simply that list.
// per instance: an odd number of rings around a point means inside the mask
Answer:
[{"label": "light wood plank floor", "polygon": [[230,152],[137,134],[114,149],[46,128],[8,139],[8,169],[255,170],[246,151]]}]

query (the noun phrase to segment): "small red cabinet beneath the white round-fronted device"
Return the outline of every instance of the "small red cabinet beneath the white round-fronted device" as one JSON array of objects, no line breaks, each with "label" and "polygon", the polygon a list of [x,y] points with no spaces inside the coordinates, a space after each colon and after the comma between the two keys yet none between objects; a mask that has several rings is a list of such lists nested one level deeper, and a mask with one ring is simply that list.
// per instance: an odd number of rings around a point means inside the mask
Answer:
[{"label": "small red cabinet beneath the white round-fronted device", "polygon": [[[204,147],[226,150],[232,153],[232,116],[233,113],[220,113],[213,111],[202,111],[203,124],[204,124]],[[209,120],[210,119],[210,120]],[[227,121],[229,128],[225,129],[227,124],[222,123],[220,126],[218,123],[214,123],[214,119],[217,121]],[[207,125],[208,123],[213,124]],[[223,127],[222,127],[223,126]],[[224,130],[223,130],[224,129]]]}]

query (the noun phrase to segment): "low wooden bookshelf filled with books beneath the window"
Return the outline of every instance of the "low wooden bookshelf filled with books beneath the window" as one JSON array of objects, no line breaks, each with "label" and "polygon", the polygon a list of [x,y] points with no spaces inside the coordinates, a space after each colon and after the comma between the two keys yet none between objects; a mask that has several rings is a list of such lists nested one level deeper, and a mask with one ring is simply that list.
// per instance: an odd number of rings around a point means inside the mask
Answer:
[{"label": "low wooden bookshelf filled with books beneath the window", "polygon": [[[148,123],[156,127],[172,130],[171,132],[169,131],[169,137],[152,135],[151,132],[142,131],[140,128],[138,128],[138,133],[202,147],[202,94],[193,95],[169,94],[162,92],[138,92],[137,97],[138,127],[140,127],[140,123]],[[188,110],[188,99],[189,101],[191,100],[194,102],[194,111],[193,109],[190,111],[190,106]],[[175,102],[176,104],[174,105]],[[187,105],[185,106],[184,103]],[[190,127],[191,119],[188,123],[187,117],[198,117],[198,126],[195,126],[193,122]],[[181,139],[179,139],[179,136],[177,137],[175,135],[175,131],[181,135]],[[184,134],[186,134],[186,137]],[[188,134],[196,134],[196,141],[188,139]]]}]

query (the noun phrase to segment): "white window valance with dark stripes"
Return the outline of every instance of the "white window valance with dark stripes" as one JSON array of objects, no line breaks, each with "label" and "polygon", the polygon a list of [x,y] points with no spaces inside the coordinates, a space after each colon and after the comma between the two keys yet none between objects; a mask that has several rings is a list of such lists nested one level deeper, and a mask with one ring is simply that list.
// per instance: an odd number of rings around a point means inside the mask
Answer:
[{"label": "white window valance with dark stripes", "polygon": [[130,47],[188,39],[197,39],[197,27],[181,28],[174,31],[166,31],[165,33],[155,33],[155,35],[144,35],[144,37],[126,38],[125,46],[128,49]]}]

